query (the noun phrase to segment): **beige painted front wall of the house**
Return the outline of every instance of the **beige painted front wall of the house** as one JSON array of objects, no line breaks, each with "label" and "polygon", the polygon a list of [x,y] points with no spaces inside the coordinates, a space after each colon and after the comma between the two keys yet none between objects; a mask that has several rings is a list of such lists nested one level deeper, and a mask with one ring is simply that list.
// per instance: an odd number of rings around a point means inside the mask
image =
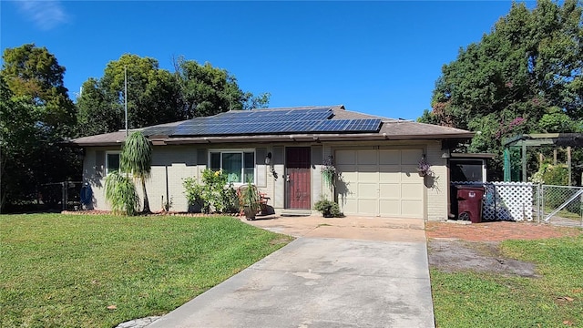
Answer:
[{"label": "beige painted front wall of the house", "polygon": [[[186,211],[189,209],[182,180],[187,177],[200,179],[202,170],[207,168],[208,151],[210,149],[256,149],[256,179],[258,188],[265,192],[276,212],[284,208],[285,146],[290,143],[271,144],[213,144],[184,146],[155,146],[152,158],[151,177],[147,182],[150,209],[162,210],[162,197],[171,200],[170,210]],[[441,142],[435,140],[404,140],[404,141],[361,141],[361,142],[322,142],[293,143],[293,147],[312,147],[312,205],[322,197],[332,199],[332,190],[322,181],[322,160],[333,155],[334,149],[424,149],[427,162],[432,165],[435,179],[425,179],[424,188],[424,220],[445,220],[447,218],[447,168],[443,159]],[[108,210],[104,196],[105,151],[116,148],[88,148],[84,159],[84,180],[91,184],[94,191],[94,207],[98,210]],[[271,152],[270,165],[265,164],[265,156]],[[168,172],[168,173],[167,173]],[[277,176],[277,178],[276,178]],[[167,178],[168,177],[168,178]],[[141,189],[138,188],[141,193]],[[314,214],[317,211],[312,210]]]}]

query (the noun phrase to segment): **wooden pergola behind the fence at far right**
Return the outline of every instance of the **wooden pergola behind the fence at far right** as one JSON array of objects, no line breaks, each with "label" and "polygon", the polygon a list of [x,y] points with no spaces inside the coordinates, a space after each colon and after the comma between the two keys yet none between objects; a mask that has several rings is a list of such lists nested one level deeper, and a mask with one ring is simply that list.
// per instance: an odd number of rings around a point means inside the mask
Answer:
[{"label": "wooden pergola behind the fence at far right", "polygon": [[527,182],[527,148],[551,145],[555,147],[567,147],[568,183],[571,184],[572,163],[571,148],[583,147],[583,133],[533,133],[521,134],[502,140],[504,147],[504,180],[511,181],[510,148],[520,147],[522,155],[522,181]]}]

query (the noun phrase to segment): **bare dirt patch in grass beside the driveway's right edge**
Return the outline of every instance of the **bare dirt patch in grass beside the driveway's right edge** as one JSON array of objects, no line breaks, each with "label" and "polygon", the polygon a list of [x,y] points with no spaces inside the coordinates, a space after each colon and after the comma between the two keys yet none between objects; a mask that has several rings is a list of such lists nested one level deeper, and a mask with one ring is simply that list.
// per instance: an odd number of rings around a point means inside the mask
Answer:
[{"label": "bare dirt patch in grass beside the driveway's right edge", "polygon": [[430,239],[427,253],[429,265],[445,272],[494,272],[537,277],[535,264],[500,256],[499,241]]}]

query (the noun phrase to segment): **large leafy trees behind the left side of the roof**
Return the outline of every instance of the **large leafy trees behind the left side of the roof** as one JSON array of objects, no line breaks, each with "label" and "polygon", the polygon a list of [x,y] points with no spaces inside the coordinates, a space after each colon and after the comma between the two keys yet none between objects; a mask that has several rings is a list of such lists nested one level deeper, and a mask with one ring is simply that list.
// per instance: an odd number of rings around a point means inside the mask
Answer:
[{"label": "large leafy trees behind the left side of the roof", "polygon": [[[126,54],[111,61],[101,78],[91,77],[77,99],[81,136],[124,128],[124,88],[128,79],[129,128],[210,116],[227,110],[264,108],[270,94],[243,92],[225,69],[180,57],[175,72],[156,59]],[[127,73],[127,74],[126,74]]]}]

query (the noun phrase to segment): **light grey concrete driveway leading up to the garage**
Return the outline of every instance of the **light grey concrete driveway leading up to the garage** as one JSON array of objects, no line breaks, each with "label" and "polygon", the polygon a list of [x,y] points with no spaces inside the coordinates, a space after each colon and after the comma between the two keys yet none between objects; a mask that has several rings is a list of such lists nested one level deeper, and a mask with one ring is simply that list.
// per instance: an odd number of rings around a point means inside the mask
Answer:
[{"label": "light grey concrete driveway leading up to the garage", "polygon": [[148,328],[435,326],[423,220],[249,223],[298,239]]}]

